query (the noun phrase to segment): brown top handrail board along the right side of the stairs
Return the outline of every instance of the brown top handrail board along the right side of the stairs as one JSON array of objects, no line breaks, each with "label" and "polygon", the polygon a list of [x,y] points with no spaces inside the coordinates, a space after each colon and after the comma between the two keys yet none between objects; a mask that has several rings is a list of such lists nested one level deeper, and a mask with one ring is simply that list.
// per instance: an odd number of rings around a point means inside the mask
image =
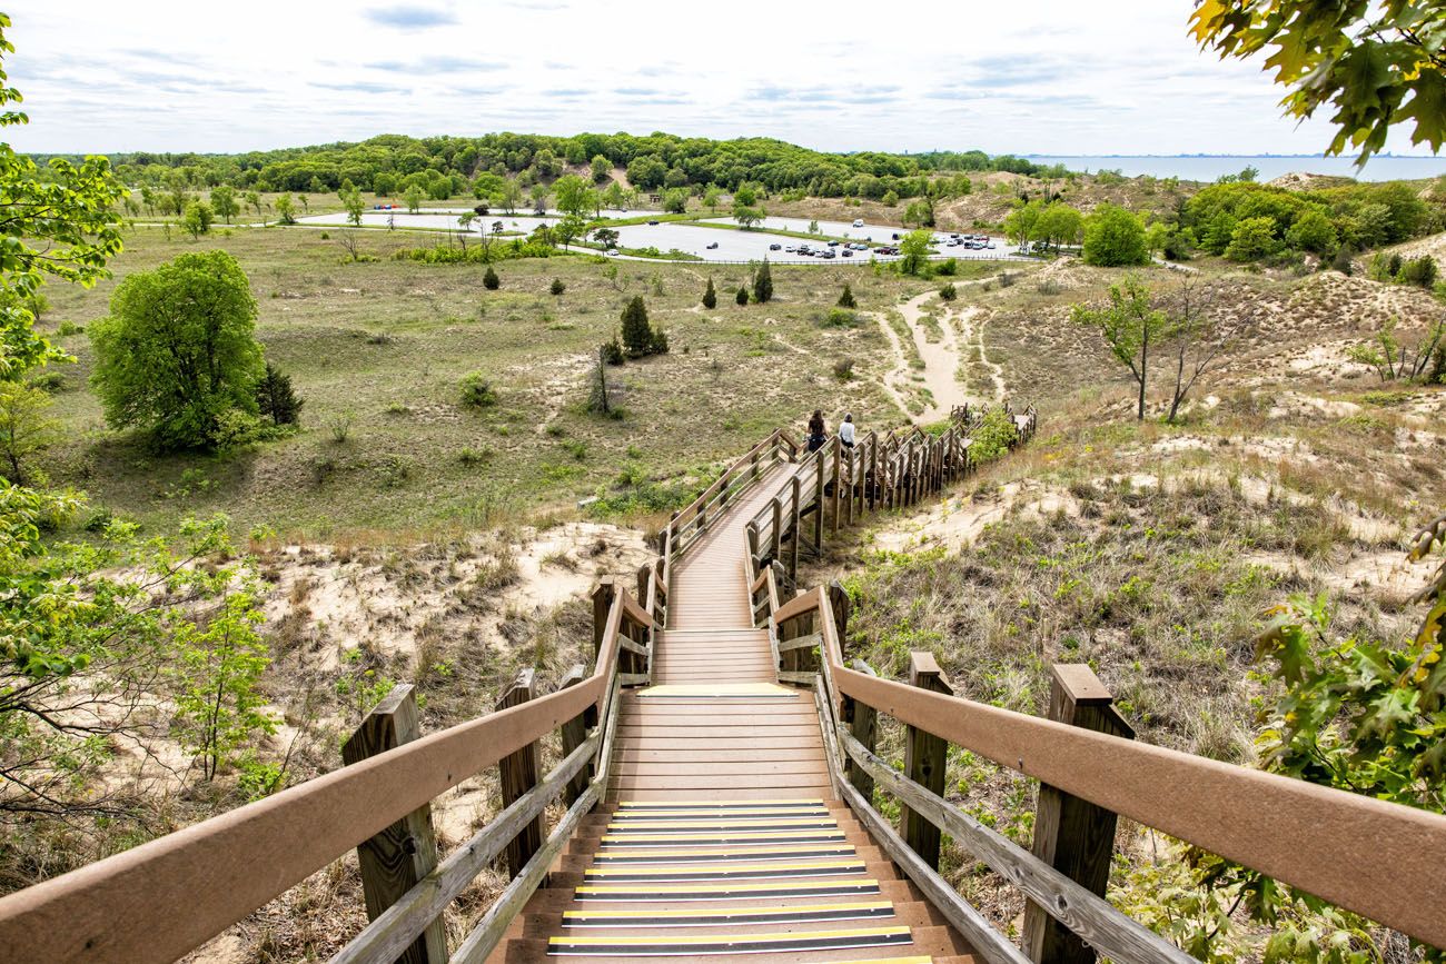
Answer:
[{"label": "brown top handrail board along the right side of the stairs", "polygon": [[870,676],[843,665],[821,588],[775,624],[810,611],[836,698],[1446,947],[1446,817]]}]

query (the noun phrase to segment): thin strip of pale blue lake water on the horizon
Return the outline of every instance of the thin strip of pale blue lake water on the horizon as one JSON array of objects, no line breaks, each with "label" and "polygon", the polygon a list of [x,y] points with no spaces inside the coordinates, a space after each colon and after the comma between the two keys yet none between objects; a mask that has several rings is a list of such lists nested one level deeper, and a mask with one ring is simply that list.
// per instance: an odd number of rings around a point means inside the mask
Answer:
[{"label": "thin strip of pale blue lake water on the horizon", "polygon": [[1319,155],[1296,156],[1079,156],[1060,158],[1044,155],[1022,155],[1035,163],[1061,163],[1070,171],[1121,171],[1125,176],[1148,173],[1155,178],[1180,178],[1181,181],[1215,181],[1222,173],[1239,173],[1246,166],[1258,168],[1257,181],[1272,181],[1283,173],[1329,173],[1358,181],[1410,181],[1416,178],[1439,178],[1446,175],[1446,158],[1403,158],[1378,156],[1366,163],[1364,171],[1355,169],[1351,158],[1322,158]]}]

